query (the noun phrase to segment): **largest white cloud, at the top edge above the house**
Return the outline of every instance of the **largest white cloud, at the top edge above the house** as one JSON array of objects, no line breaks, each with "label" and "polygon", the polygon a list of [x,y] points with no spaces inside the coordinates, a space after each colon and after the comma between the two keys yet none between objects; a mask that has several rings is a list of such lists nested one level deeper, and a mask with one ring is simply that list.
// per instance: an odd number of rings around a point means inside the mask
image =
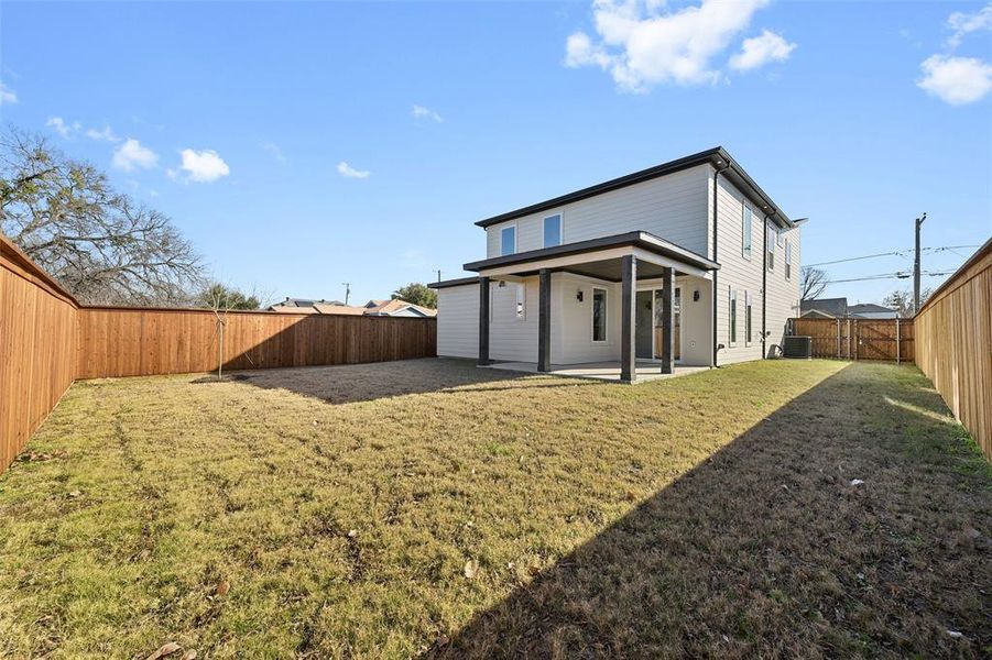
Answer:
[{"label": "largest white cloud, at the top edge above the house", "polygon": [[711,61],[723,53],[768,0],[702,0],[666,11],[661,2],[595,0],[598,40],[577,32],[565,44],[565,65],[598,66],[625,91],[654,85],[712,85],[723,74]]}]

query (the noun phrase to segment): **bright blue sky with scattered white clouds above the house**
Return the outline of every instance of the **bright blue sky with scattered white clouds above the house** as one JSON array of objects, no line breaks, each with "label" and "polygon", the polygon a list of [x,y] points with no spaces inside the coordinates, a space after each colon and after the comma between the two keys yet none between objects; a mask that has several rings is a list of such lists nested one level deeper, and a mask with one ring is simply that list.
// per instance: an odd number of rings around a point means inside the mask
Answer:
[{"label": "bright blue sky with scattered white clouds above the house", "polygon": [[718,144],[811,219],[805,263],[911,248],[923,211],[925,245],[992,233],[986,3],[4,2],[0,21],[3,123],[276,299],[457,277],[484,253],[475,220]]}]

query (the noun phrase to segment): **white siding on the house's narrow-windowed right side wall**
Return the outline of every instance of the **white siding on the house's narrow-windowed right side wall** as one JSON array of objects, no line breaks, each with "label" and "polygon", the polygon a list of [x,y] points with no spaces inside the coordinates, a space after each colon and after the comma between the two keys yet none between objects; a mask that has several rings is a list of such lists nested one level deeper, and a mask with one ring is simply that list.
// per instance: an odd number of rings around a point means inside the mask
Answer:
[{"label": "white siding on the house's narrow-windowed right side wall", "polygon": [[[709,215],[712,215],[712,170],[710,174]],[[743,205],[749,205],[751,215],[751,258],[742,252],[742,213]],[[761,359],[761,302],[762,268],[765,243],[763,234],[764,213],[756,208],[726,178],[719,178],[717,200],[718,252],[716,261],[720,263],[717,277],[717,343],[722,343],[717,363],[730,364],[748,360]],[[784,233],[793,244],[793,272],[789,280],[785,279],[785,245],[776,245],[775,267],[767,275],[766,328],[771,331],[768,348],[781,344],[785,331],[785,322],[789,317],[799,314],[799,229]],[[712,257],[712,250],[708,252]],[[730,342],[730,296],[735,290],[738,296],[738,332],[737,342]],[[744,310],[746,296],[751,297],[751,337],[745,337]]]}]

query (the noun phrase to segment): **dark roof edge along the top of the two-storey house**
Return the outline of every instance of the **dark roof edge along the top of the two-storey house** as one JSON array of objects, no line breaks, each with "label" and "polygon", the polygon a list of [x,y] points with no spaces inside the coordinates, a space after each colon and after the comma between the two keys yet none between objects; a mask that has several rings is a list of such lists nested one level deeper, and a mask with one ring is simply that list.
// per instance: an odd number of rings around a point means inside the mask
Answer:
[{"label": "dark roof edge along the top of the two-storey house", "polygon": [[741,167],[737,163],[737,161],[734,161],[730,156],[730,153],[728,153],[727,150],[722,146],[717,146],[705,152],[699,152],[698,154],[693,154],[691,156],[678,158],[676,161],[669,161],[668,163],[663,163],[662,165],[655,165],[654,167],[648,167],[647,169],[634,172],[633,174],[628,174],[625,176],[621,176],[620,178],[614,178],[601,184],[597,184],[595,186],[589,186],[588,188],[582,188],[581,190],[576,190],[575,193],[568,193],[567,195],[562,195],[560,197],[555,197],[554,199],[539,201],[537,204],[516,209],[515,211],[509,211],[506,213],[493,216],[492,218],[487,218],[486,220],[479,220],[478,222],[476,222],[476,224],[486,228],[491,224],[505,222],[506,220],[513,220],[515,218],[522,218],[524,216],[530,216],[531,213],[552,210],[566,204],[571,204],[574,201],[579,201],[589,197],[602,195],[603,193],[617,190],[618,188],[625,188],[626,186],[632,186],[634,184],[640,184],[653,178],[658,178],[667,174],[675,174],[676,172],[682,172],[683,169],[688,169],[690,167],[706,164],[720,168],[727,167],[726,169],[723,169],[723,176],[727,176],[731,180],[731,183],[740,188],[741,191],[746,195],[753,204],[757,205],[760,212],[767,215],[770,218],[776,220],[777,223],[783,227],[795,227],[795,223],[789,220],[788,216],[786,216],[781,209],[778,209],[775,202],[772,201],[772,198],[768,197],[765,191],[754,183],[754,179],[752,179],[748,175],[748,173],[744,172],[744,168]]}]

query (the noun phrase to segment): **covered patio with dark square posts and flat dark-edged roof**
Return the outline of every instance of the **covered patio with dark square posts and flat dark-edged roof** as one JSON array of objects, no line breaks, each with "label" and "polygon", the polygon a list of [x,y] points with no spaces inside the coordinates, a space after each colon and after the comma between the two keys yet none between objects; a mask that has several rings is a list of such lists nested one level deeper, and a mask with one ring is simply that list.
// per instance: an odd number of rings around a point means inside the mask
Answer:
[{"label": "covered patio with dark square posts and flat dark-edged roof", "polygon": [[[498,338],[503,346],[512,341],[517,349],[536,340],[536,361],[532,362],[534,358],[506,360],[505,350],[503,355],[497,351],[495,356],[502,359],[499,369],[579,375],[624,383],[634,383],[639,378],[653,380],[675,375],[678,359],[675,322],[678,316],[676,277],[683,280],[689,277],[693,280],[696,288],[694,300],[697,302],[700,300],[699,289],[705,288],[708,290],[705,292],[706,296],[702,299],[712,301],[710,273],[719,267],[718,263],[705,256],[643,231],[566,243],[466,264],[466,270],[479,273],[478,364],[489,366],[493,362],[492,285],[504,287],[508,282],[515,282],[525,289],[526,280],[530,279],[533,286],[536,278],[538,300],[536,338],[534,334],[523,333],[514,333],[512,339]],[[565,277],[584,278],[591,283],[591,286],[601,283],[604,287],[615,287],[619,294],[620,307],[612,308],[613,312],[610,314],[606,289],[602,295],[599,295],[600,289],[596,288],[592,292],[576,292],[576,299],[579,302],[584,301],[586,294],[591,294],[591,307],[587,308],[591,319],[589,337],[584,334],[587,330],[578,327],[585,321],[575,317],[575,310],[565,309],[569,306],[568,293],[563,290],[560,284]],[[657,293],[656,296],[639,296],[645,293],[639,290],[639,284],[646,283],[651,283],[651,288]],[[643,289],[643,286],[641,288]],[[643,322],[645,317],[643,310],[639,315],[642,298],[648,305],[651,315],[657,317],[657,321],[651,328],[646,328]],[[524,307],[524,301],[517,304]],[[588,305],[588,301],[586,304]],[[556,305],[560,307],[555,309]],[[699,307],[701,310],[702,304],[699,304]],[[600,351],[591,355],[587,344],[607,341],[608,316],[615,319],[615,331],[619,333],[617,341],[617,336],[610,331],[610,346],[614,348],[615,352],[604,354]],[[709,317],[709,314],[706,316]],[[694,363],[696,367],[712,365],[712,328],[709,323],[707,320],[705,334],[700,332],[701,328],[697,328],[697,334],[693,338],[697,355]],[[558,345],[553,344],[553,338]],[[646,355],[642,348],[645,344]],[[526,348],[533,350],[532,346],[533,344]],[[702,360],[699,360],[700,352]],[[639,360],[645,356],[656,360]],[[602,358],[612,360],[603,361]],[[508,367],[506,364],[513,366]]]}]

